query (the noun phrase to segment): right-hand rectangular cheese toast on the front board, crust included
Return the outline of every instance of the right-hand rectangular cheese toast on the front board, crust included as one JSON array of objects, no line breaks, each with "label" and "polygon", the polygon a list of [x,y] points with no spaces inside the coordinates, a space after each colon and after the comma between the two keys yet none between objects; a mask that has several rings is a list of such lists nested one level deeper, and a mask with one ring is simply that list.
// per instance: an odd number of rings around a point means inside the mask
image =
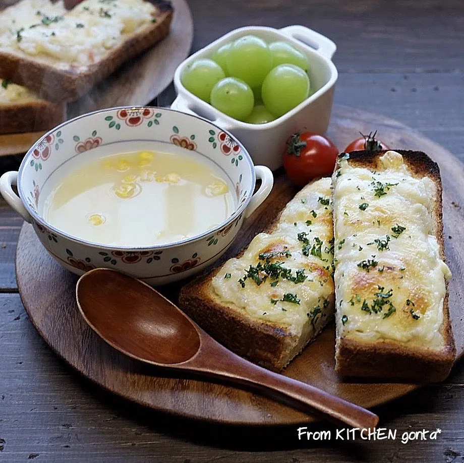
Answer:
[{"label": "right-hand rectangular cheese toast on the front board, crust included", "polygon": [[455,347],[438,165],[418,151],[340,156],[333,217],[336,371],[443,380]]}]

